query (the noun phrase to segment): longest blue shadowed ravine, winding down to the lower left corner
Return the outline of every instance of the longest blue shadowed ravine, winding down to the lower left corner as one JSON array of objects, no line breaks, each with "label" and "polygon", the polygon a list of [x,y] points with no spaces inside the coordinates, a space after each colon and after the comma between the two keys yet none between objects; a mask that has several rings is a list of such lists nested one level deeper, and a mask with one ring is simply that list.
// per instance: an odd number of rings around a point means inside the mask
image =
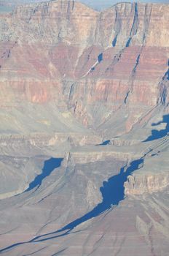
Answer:
[{"label": "longest blue shadowed ravine, winding down to the lower left corner", "polygon": [[[122,167],[120,173],[112,176],[109,178],[108,181],[103,181],[103,187],[100,188],[103,200],[98,206],[95,206],[92,211],[84,214],[84,216],[80,217],[79,219],[75,219],[73,222],[70,222],[68,225],[62,227],[60,230],[56,230],[52,233],[47,233],[42,236],[36,236],[35,238],[31,239],[30,241],[12,244],[4,249],[0,249],[0,252],[7,251],[8,249],[12,249],[15,246],[19,246],[22,244],[28,243],[36,243],[41,241],[47,241],[53,238],[58,238],[60,236],[66,236],[74,227],[86,222],[89,219],[93,219],[94,217],[98,217],[98,215],[102,214],[103,212],[109,210],[112,206],[117,206],[121,200],[124,200],[125,193],[124,193],[124,183],[127,181],[127,176],[133,173],[135,170],[138,170],[141,165],[144,163],[144,157],[137,159],[130,163],[130,166]],[[76,231],[79,232],[79,231]]]}]

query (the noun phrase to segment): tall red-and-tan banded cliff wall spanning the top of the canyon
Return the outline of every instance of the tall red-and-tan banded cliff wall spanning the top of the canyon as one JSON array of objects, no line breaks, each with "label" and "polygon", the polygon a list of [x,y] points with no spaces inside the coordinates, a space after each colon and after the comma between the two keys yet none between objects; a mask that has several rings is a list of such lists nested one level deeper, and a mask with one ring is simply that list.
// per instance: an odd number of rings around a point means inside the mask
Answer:
[{"label": "tall red-and-tan banded cliff wall spanning the top of the canyon", "polygon": [[53,101],[103,131],[125,109],[128,132],[158,103],[168,104],[168,5],[96,12],[49,1],[1,15],[0,30],[2,108]]}]

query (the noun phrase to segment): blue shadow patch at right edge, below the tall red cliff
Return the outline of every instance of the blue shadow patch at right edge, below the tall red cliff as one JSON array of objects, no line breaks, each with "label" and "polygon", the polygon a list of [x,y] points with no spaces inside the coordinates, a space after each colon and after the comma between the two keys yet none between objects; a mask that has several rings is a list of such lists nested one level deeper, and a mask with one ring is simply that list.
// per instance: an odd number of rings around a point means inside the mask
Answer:
[{"label": "blue shadow patch at right edge, below the tall red cliff", "polygon": [[166,123],[165,129],[161,129],[160,131],[158,131],[157,129],[152,129],[152,135],[150,135],[143,142],[157,140],[157,139],[163,138],[166,135],[168,135],[168,132],[169,132],[169,115],[163,116],[162,121],[159,121],[158,123],[154,123],[154,124],[152,124],[152,126],[155,127],[155,126],[157,126],[159,124],[162,124],[162,123]]}]

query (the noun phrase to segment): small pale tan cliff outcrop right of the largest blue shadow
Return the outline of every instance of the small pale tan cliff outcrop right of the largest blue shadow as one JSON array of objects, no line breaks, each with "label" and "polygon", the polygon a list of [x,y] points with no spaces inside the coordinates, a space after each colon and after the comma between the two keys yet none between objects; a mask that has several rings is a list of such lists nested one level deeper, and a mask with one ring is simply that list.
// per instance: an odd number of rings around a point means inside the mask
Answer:
[{"label": "small pale tan cliff outcrop right of the largest blue shadow", "polygon": [[[152,154],[145,158],[141,170],[135,171],[132,176],[127,177],[124,184],[125,195],[152,194],[168,189],[168,141],[165,148],[163,148],[164,146],[160,147],[162,148],[157,147],[160,154]],[[155,147],[154,150],[157,148]]]}]

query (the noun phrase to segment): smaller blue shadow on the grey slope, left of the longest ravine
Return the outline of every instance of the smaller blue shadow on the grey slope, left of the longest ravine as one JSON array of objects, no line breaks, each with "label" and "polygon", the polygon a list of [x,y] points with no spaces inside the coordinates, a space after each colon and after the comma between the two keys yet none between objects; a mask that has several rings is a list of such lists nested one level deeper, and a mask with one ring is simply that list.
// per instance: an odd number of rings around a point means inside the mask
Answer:
[{"label": "smaller blue shadow on the grey slope, left of the longest ravine", "polygon": [[63,161],[63,158],[53,158],[53,157],[44,161],[44,167],[42,169],[42,173],[36,176],[34,181],[32,181],[29,184],[29,187],[28,189],[25,190],[25,192],[28,192],[31,189],[34,189],[35,187],[37,188],[40,187],[43,179],[46,178],[47,176],[50,176],[50,173],[52,173],[52,171],[55,170],[55,168],[58,168],[62,161]]}]

